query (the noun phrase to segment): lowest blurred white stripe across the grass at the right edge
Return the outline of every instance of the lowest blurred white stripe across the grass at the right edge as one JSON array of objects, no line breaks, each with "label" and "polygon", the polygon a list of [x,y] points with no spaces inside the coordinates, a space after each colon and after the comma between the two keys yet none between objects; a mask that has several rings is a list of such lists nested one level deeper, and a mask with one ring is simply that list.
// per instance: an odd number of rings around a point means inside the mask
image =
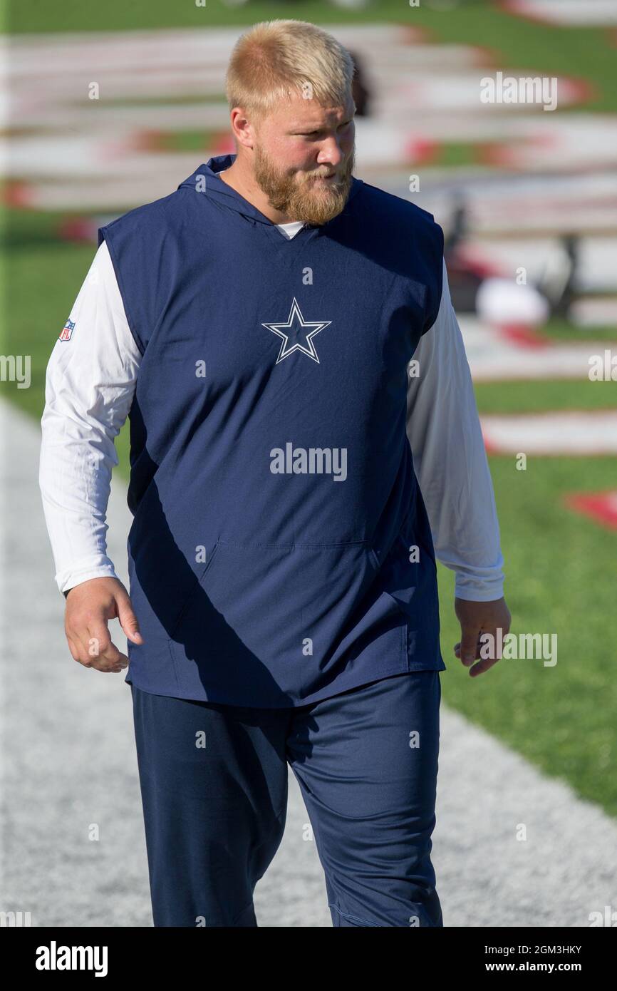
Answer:
[{"label": "lowest blurred white stripe across the grass at the right edge", "polygon": [[480,416],[484,441],[504,454],[617,454],[617,409]]}]

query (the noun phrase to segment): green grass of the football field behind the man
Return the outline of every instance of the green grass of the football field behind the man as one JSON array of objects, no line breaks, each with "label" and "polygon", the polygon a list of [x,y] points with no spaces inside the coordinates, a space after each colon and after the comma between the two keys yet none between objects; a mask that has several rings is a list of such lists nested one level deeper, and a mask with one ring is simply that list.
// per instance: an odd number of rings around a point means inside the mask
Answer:
[{"label": "green grass of the football field behind the man", "polygon": [[[171,0],[30,0],[12,3],[5,30],[112,31],[156,27],[216,27],[295,17],[324,25],[349,20],[325,3],[250,3],[226,8],[208,0],[205,8]],[[398,0],[374,3],[354,20],[397,21],[426,28],[435,42],[481,46],[502,68],[586,79],[593,96],[585,109],[617,110],[617,58],[599,29],[556,29],[514,19],[486,3],[467,2],[447,12],[411,9]],[[572,111],[575,112],[575,111]],[[186,139],[195,143],[193,135]],[[453,144],[448,161],[467,161],[468,150]],[[118,209],[116,214],[125,212]],[[106,213],[114,214],[113,209]],[[57,214],[11,211],[8,258],[2,267],[3,352],[32,356],[32,385],[2,383],[2,393],[33,420],[44,405],[45,370],[51,349],[94,255],[94,245],[72,245],[56,235]],[[577,331],[553,322],[556,339],[605,340],[617,348],[615,328]],[[534,412],[615,408],[614,383],[532,382],[478,384],[478,409]],[[128,477],[128,425],[117,449],[119,472]],[[558,663],[502,660],[471,679],[453,653],[460,639],[454,613],[454,574],[439,566],[442,649],[448,672],[444,700],[483,726],[539,768],[564,778],[583,797],[617,816],[617,610],[614,562],[617,532],[566,509],[571,491],[617,488],[614,458],[528,458],[527,470],[514,457],[491,457],[490,468],[506,561],[505,595],[513,632],[558,634]],[[490,754],[478,754],[490,760]]]}]

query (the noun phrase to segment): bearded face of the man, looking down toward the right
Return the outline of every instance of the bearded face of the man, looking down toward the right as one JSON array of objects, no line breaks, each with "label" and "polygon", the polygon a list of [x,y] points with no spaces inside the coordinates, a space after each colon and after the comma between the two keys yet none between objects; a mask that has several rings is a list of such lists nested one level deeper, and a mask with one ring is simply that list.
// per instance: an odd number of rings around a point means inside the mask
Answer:
[{"label": "bearded face of the man, looking down toward the right", "polygon": [[294,96],[255,130],[253,171],[270,206],[305,224],[343,210],[355,165],[354,102],[324,107]]}]

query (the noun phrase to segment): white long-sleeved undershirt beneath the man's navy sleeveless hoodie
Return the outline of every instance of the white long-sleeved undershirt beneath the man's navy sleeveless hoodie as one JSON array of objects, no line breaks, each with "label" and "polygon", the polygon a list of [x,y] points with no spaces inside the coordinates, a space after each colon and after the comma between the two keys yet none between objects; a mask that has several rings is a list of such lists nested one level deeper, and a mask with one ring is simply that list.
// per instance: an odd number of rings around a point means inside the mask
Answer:
[{"label": "white long-sleeved undershirt beneath the man's navy sleeveless hoodie", "polygon": [[[280,225],[288,236],[298,225]],[[301,225],[300,225],[301,226]],[[115,438],[137,384],[141,352],[129,328],[109,251],[101,244],[70,311],[75,332],[57,340],[46,376],[39,484],[55,566],[65,592],[118,577],[107,556],[107,504]],[[492,483],[463,338],[444,288],[409,379],[407,433],[436,557],[456,571],[456,594],[503,595],[503,558]]]}]

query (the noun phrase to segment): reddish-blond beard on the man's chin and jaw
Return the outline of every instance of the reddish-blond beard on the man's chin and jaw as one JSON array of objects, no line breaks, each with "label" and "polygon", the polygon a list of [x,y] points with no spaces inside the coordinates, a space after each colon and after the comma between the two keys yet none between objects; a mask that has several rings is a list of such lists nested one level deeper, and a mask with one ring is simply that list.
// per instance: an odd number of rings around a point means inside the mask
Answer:
[{"label": "reddish-blond beard on the man's chin and jaw", "polygon": [[327,224],[338,216],[347,203],[352,188],[352,173],[356,161],[356,148],[347,162],[342,165],[336,181],[321,181],[317,176],[332,171],[327,165],[320,165],[314,172],[308,172],[302,179],[295,170],[279,171],[267,157],[260,145],[254,154],[254,175],[259,188],[268,197],[274,210],[301,220],[305,224]]}]

